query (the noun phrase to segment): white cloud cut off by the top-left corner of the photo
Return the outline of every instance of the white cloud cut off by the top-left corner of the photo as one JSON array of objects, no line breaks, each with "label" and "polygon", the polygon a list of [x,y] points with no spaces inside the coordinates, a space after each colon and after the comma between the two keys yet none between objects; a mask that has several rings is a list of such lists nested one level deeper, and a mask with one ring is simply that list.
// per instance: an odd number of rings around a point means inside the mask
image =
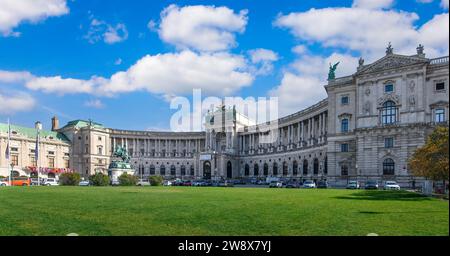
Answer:
[{"label": "white cloud cut off by the top-left corner of the photo", "polygon": [[52,16],[69,13],[66,0],[1,0],[0,34],[17,36],[13,29],[20,23],[36,23]]}]

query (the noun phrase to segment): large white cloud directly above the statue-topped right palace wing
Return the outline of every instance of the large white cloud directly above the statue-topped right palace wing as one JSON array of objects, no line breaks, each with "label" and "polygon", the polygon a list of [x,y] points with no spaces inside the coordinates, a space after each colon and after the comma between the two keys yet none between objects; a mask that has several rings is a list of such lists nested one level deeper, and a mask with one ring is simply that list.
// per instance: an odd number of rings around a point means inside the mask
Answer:
[{"label": "large white cloud directly above the statue-topped right palace wing", "polygon": [[[442,14],[447,15],[448,14]],[[366,59],[374,60],[384,55],[388,42],[392,42],[394,52],[414,53],[419,43],[424,43],[428,56],[437,57],[448,53],[448,30],[425,39],[425,28],[448,27],[448,18],[435,18],[421,27],[414,25],[419,17],[415,13],[393,10],[371,10],[364,8],[310,9],[306,12],[279,16],[275,25],[288,28],[298,39],[318,42],[324,47],[337,47],[359,51]],[[435,20],[437,19],[437,20]],[[351,29],[349,29],[351,28]],[[446,43],[442,44],[442,38]],[[435,40],[436,39],[436,40]]]}]

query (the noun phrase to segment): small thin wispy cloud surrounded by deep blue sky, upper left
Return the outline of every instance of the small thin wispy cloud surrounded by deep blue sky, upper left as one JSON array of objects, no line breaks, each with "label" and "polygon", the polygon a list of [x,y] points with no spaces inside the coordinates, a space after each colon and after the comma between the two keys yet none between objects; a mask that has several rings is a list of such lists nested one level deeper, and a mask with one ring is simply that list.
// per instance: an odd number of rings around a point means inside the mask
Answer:
[{"label": "small thin wispy cloud surrounded by deep blue sky, upper left", "polygon": [[125,24],[110,25],[103,20],[90,17],[91,22],[87,34],[84,36],[89,43],[94,44],[103,40],[107,44],[115,44],[128,39],[128,30]]}]

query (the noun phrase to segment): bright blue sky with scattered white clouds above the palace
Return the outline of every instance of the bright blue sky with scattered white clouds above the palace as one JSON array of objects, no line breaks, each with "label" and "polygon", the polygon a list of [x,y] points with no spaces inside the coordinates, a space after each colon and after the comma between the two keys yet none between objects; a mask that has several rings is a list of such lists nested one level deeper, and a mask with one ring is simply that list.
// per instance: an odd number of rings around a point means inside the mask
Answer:
[{"label": "bright blue sky with scattered white clouds above the palace", "polygon": [[394,53],[447,56],[448,0],[0,0],[0,122],[169,130],[176,96],[326,98],[336,76]]}]

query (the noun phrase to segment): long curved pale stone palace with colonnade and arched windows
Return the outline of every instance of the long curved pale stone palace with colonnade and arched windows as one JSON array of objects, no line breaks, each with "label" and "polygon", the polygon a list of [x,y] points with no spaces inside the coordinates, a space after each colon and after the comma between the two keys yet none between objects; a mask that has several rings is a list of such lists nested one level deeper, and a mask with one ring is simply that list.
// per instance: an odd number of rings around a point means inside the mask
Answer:
[{"label": "long curved pale stone palace with colonnade and arched windows", "polygon": [[[407,161],[437,125],[448,126],[449,57],[429,59],[423,46],[416,50],[399,55],[389,46],[371,64],[360,59],[353,75],[328,80],[326,99],[276,120],[269,131],[225,108],[206,116],[203,132],[127,131],[83,120],[59,128],[54,118],[42,164],[53,161],[84,176],[106,172],[113,149],[123,146],[145,177],[326,179],[332,186],[374,179],[421,186],[423,179],[412,176]],[[1,152],[5,127],[0,125]],[[14,161],[31,165],[33,134],[13,129]],[[275,139],[267,142],[265,136]]]}]

